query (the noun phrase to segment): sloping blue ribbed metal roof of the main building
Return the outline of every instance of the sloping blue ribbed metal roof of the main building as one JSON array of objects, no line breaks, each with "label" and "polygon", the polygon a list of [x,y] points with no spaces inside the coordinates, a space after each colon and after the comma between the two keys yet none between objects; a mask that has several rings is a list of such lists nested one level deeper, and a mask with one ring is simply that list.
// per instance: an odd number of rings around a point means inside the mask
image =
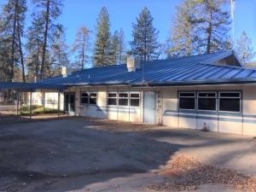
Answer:
[{"label": "sloping blue ribbed metal roof of the main building", "polygon": [[[237,59],[233,51],[192,55],[177,59],[141,62],[136,72],[128,72],[126,64],[94,67],[67,77],[44,79],[48,84],[97,85],[176,85],[256,82],[256,71],[243,67],[217,65],[225,58]],[[230,61],[230,60],[228,60]],[[230,63],[232,64],[232,63]]]}]

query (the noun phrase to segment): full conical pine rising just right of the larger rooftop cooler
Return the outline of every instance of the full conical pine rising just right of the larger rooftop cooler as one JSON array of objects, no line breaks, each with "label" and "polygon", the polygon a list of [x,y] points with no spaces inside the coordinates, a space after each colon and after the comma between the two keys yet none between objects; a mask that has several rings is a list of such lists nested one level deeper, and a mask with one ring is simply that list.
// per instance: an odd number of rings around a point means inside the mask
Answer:
[{"label": "full conical pine rising just right of the larger rooftop cooler", "polygon": [[154,28],[153,20],[149,10],[144,8],[137,17],[137,23],[132,24],[131,54],[140,56],[142,61],[152,60],[158,47],[159,32]]}]

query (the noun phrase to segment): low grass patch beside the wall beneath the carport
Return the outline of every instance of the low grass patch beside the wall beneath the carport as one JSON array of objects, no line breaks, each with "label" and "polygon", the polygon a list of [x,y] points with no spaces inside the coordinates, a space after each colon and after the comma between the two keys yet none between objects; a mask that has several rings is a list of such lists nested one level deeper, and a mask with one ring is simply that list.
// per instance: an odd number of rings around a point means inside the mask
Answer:
[{"label": "low grass patch beside the wall beneath the carport", "polygon": [[[30,108],[29,106],[23,106],[19,110],[20,114],[22,115],[29,115]],[[51,114],[51,113],[58,113],[58,109],[55,108],[44,108],[43,106],[32,105],[32,114]],[[63,111],[59,111],[59,113],[64,113]]]}]

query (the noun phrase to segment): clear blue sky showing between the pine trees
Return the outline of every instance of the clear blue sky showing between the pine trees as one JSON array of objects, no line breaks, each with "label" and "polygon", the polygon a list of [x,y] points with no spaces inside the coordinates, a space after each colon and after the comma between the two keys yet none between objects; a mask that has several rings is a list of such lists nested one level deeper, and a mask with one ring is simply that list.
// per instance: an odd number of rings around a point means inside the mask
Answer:
[{"label": "clear blue sky showing between the pine trees", "polygon": [[[0,5],[5,2],[6,0],[0,0]],[[66,27],[67,44],[72,45],[80,26],[86,26],[93,32],[96,31],[96,18],[104,6],[108,9],[111,32],[119,31],[122,27],[125,31],[125,41],[129,42],[132,40],[132,23],[136,23],[141,10],[147,7],[154,18],[154,27],[159,30],[159,41],[165,42],[170,34],[175,7],[180,2],[181,0],[64,0],[64,8],[59,21]],[[230,6],[227,9],[230,10]],[[32,10],[31,4],[29,10]],[[247,36],[252,38],[253,47],[256,50],[256,0],[236,0],[234,15],[235,39],[240,37],[242,31],[245,31]],[[92,33],[91,42],[94,39],[95,33]],[[126,43],[126,45],[129,44]]]}]

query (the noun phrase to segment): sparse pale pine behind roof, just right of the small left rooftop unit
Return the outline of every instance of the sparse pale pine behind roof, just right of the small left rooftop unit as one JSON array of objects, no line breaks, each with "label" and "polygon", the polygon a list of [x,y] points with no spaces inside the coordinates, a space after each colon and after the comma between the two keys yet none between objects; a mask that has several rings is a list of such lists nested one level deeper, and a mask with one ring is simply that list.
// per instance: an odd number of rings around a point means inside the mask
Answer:
[{"label": "sparse pale pine behind roof, just right of the small left rooftop unit", "polygon": [[84,69],[89,56],[86,52],[90,49],[90,30],[86,26],[79,28],[73,44],[72,52],[76,54],[76,67]]}]

